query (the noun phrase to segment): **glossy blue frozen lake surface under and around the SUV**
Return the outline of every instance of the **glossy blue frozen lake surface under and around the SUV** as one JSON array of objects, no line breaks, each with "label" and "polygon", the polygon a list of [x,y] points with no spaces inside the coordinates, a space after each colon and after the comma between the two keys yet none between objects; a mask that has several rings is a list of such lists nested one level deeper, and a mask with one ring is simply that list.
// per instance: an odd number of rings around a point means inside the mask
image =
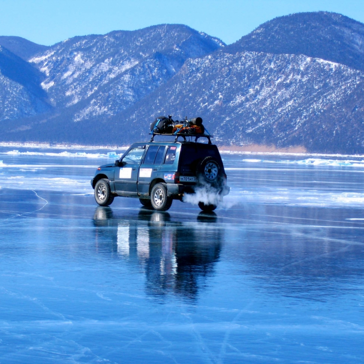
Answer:
[{"label": "glossy blue frozen lake surface under and around the SUV", "polygon": [[361,158],[223,154],[209,216],[97,207],[110,151],[8,151],[0,363],[364,362]]}]

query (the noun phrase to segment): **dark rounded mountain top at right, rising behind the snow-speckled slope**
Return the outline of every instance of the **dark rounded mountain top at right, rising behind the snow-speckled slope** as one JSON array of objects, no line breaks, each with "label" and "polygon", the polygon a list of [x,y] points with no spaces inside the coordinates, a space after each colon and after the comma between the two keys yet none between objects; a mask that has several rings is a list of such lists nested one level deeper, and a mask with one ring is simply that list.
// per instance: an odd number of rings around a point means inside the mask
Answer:
[{"label": "dark rounded mountain top at right, rising behind the snow-speckled slope", "polygon": [[224,51],[304,54],[364,71],[364,24],[323,11],[291,14],[267,21]]}]

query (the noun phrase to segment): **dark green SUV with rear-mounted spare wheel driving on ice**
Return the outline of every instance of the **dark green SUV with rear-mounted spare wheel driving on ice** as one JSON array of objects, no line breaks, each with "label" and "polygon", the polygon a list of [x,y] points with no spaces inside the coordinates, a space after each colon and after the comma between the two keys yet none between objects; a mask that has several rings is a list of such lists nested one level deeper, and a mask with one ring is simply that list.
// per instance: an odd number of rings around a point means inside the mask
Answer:
[{"label": "dark green SUV with rear-mounted spare wheel driving on ice", "polygon": [[187,195],[201,210],[213,211],[230,191],[217,146],[177,140],[133,144],[115,163],[100,166],[91,185],[100,206],[116,196],[136,197],[158,211]]}]

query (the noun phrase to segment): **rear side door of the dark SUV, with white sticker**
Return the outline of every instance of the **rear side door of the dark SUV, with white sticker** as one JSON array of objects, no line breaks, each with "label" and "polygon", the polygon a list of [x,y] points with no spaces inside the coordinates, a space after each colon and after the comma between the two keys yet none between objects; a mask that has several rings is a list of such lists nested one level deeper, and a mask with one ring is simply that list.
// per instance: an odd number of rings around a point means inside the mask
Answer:
[{"label": "rear side door of the dark SUV, with white sticker", "polygon": [[149,194],[150,182],[158,177],[165,150],[166,146],[164,145],[149,145],[143,164],[139,169],[138,192],[141,195],[147,196]]}]

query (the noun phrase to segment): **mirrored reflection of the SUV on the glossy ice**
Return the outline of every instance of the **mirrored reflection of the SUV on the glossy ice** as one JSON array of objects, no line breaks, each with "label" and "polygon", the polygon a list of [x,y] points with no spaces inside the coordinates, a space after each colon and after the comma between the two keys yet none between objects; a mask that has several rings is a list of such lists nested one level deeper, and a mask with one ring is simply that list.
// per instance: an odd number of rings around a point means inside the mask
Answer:
[{"label": "mirrored reflection of the SUV on the glossy ice", "polygon": [[142,266],[147,293],[188,298],[195,298],[219,259],[222,230],[215,222],[214,213],[181,222],[167,212],[142,208],[138,214],[117,216],[100,206],[93,219],[98,252]]}]

